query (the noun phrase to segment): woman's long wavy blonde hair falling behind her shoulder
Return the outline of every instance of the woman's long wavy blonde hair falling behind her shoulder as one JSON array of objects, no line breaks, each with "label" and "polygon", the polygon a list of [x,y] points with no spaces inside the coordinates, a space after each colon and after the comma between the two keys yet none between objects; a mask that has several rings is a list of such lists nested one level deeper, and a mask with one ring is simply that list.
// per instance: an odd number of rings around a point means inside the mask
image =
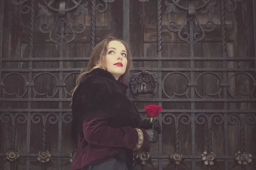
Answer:
[{"label": "woman's long wavy blonde hair falling behind her shoulder", "polygon": [[[126,57],[127,57],[127,61],[128,61],[127,67],[125,70],[125,74],[127,74],[130,71],[131,66],[132,66],[132,57],[131,57],[131,50],[130,50],[129,45],[123,40],[119,40],[119,39],[116,39],[115,37],[108,36],[104,40],[99,42],[99,44],[97,44],[95,46],[95,48],[93,48],[93,51],[90,55],[90,60],[87,65],[87,69],[82,70],[76,79],[76,87],[71,91],[72,97],[73,97],[74,92],[76,91],[76,88],[79,86],[82,77],[84,77],[85,74],[90,73],[95,68],[102,68],[103,70],[107,70],[107,68],[105,66],[105,57],[108,52],[108,43],[111,41],[119,41],[125,46],[126,52],[127,52]],[[96,66],[97,64],[99,64],[100,66]]]}]

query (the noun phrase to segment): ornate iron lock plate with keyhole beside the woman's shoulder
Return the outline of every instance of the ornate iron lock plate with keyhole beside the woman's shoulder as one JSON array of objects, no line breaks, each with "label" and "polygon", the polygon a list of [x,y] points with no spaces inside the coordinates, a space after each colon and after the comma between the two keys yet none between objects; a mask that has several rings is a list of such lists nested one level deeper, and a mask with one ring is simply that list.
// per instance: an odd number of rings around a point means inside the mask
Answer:
[{"label": "ornate iron lock plate with keyhole beside the woman's shoulder", "polygon": [[[155,94],[157,92],[157,78],[155,73],[149,71],[141,71],[139,73],[131,74],[134,76],[131,79],[131,92],[134,95],[140,94]],[[148,88],[150,86],[150,88]]]}]

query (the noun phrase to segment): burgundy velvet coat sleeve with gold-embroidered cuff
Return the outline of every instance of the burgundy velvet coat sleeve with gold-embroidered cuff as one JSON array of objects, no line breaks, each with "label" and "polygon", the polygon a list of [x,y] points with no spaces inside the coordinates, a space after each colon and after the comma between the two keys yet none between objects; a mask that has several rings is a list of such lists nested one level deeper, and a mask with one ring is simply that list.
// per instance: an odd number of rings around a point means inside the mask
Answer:
[{"label": "burgundy velvet coat sleeve with gold-embroidered cuff", "polygon": [[[146,147],[147,135],[143,131],[142,149]],[[84,139],[91,144],[134,149],[138,143],[137,130],[132,127],[110,127],[105,116],[89,117],[83,121]]]}]

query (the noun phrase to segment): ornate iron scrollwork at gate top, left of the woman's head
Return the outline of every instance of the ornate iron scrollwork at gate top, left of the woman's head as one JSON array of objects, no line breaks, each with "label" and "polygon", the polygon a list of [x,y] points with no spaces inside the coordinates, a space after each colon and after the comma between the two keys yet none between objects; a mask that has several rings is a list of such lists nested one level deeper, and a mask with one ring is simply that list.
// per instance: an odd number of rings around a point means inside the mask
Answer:
[{"label": "ornate iron scrollwork at gate top, left of the woman's head", "polygon": [[[50,26],[47,23],[44,23],[40,26],[40,31],[44,34],[49,34],[49,39],[58,44],[59,46],[62,45],[66,45],[67,43],[72,42],[75,37],[76,34],[81,34],[84,32],[85,30],[85,25],[83,23],[79,23],[76,25],[76,27],[74,28],[73,26],[71,26],[70,23],[70,17],[69,17],[69,12],[73,11],[76,9],[76,11],[74,12],[75,15],[79,15],[79,14],[83,14],[83,15],[87,15],[87,6],[88,3],[85,0],[71,0],[71,2],[73,3],[73,6],[70,8],[66,9],[66,1],[65,0],[61,0],[59,2],[59,8],[53,8],[53,4],[55,3],[55,0],[51,0],[49,3],[46,2],[46,0],[43,0],[44,5],[41,5],[39,3],[39,16],[40,15],[47,15],[50,16],[51,13],[49,12],[55,12],[58,13],[58,20],[55,21],[54,26],[52,26],[52,28],[50,28]],[[82,4],[82,2],[84,2]],[[66,24],[67,29],[66,31],[64,31],[64,24]],[[60,33],[57,33],[58,30],[58,26],[60,26]],[[67,32],[67,33],[64,33]],[[72,34],[72,35],[71,35]]]}]

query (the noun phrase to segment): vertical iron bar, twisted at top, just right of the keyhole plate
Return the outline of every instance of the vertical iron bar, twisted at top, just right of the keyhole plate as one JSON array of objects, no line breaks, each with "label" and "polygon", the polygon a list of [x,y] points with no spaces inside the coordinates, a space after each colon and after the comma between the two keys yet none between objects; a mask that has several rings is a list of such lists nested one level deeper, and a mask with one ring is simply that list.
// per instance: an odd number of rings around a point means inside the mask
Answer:
[{"label": "vertical iron bar, twisted at top, just right of the keyhole plate", "polygon": [[[157,57],[162,57],[162,0],[157,0]],[[158,68],[162,68],[162,60],[158,60]],[[158,72],[158,98],[162,99],[162,71]],[[158,102],[162,106],[162,102]],[[159,115],[159,121],[162,125],[162,113]],[[162,155],[162,134],[158,139],[158,154]],[[158,159],[158,169],[163,169],[163,159]]]}]

